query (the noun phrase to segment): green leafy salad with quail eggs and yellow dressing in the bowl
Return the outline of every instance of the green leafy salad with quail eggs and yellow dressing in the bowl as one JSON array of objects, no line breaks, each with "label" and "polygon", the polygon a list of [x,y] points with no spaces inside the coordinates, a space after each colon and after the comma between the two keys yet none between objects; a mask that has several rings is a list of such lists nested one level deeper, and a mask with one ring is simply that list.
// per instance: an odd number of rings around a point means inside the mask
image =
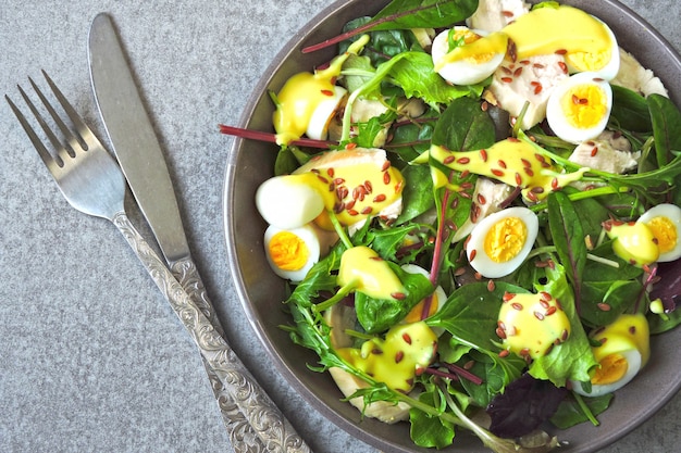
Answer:
[{"label": "green leafy salad with quail eggs and yellow dressing in the bowl", "polygon": [[[681,112],[607,24],[395,0],[271,92],[282,328],[366,417],[496,452],[597,424],[681,323]],[[274,147],[273,147],[274,148]],[[276,148],[274,148],[276,149]]]}]

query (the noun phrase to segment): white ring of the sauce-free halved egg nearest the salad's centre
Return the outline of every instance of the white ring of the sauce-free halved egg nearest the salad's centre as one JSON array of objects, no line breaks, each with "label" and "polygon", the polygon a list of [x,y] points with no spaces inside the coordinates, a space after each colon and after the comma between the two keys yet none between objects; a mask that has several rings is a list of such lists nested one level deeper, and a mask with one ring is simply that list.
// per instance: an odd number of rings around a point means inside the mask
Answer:
[{"label": "white ring of the sauce-free halved egg nearest the salad's centre", "polygon": [[[506,262],[497,263],[485,252],[485,237],[494,225],[508,217],[520,218],[527,229],[527,236],[522,248],[513,257]],[[536,214],[527,207],[508,207],[503,211],[490,214],[483,218],[471,231],[466,243],[466,254],[471,266],[486,278],[499,278],[509,275],[516,270],[522,262],[528,257],[536,235],[538,232],[538,219]],[[473,256],[474,255],[474,256]],[[473,257],[471,260],[471,257]]]}]

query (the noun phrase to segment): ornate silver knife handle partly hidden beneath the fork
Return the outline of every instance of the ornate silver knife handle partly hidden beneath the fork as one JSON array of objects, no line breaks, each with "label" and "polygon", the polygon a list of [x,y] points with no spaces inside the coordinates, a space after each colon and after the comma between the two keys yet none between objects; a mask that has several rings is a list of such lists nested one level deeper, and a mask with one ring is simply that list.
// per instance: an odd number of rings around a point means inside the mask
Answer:
[{"label": "ornate silver knife handle partly hidden beneath the fork", "polygon": [[[213,304],[208,298],[206,287],[199,275],[196,263],[191,257],[184,257],[172,263],[171,272],[185,289],[191,301],[203,313],[208,320],[213,325],[215,331],[224,337],[224,329],[218,319]],[[206,374],[210,380],[211,389],[218,401],[220,413],[227,429],[227,436],[232,448],[236,453],[261,453],[264,452],[264,445],[256,435],[253,427],[239,411],[238,405],[226,389],[226,385],[220,380],[215,370],[202,358]]]}]

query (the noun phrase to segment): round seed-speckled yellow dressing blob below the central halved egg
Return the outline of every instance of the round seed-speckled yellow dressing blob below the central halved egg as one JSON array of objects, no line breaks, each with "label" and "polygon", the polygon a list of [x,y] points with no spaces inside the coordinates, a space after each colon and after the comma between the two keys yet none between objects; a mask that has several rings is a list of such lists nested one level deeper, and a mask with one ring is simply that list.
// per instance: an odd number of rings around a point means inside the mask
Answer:
[{"label": "round seed-speckled yellow dressing blob below the central halved egg", "polygon": [[497,335],[504,348],[521,357],[538,358],[570,336],[570,320],[547,292],[507,293],[499,310]]}]

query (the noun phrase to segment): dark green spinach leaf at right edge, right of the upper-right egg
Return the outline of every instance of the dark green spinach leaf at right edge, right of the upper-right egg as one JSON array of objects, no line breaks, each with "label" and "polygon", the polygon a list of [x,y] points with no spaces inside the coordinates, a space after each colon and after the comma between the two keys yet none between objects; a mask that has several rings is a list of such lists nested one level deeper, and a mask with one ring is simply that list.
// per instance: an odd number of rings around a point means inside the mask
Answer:
[{"label": "dark green spinach leaf at right edge, right of the upper-right egg", "polygon": [[647,104],[653,118],[657,165],[663,167],[674,154],[681,153],[681,112],[671,100],[660,95],[651,95]]}]

